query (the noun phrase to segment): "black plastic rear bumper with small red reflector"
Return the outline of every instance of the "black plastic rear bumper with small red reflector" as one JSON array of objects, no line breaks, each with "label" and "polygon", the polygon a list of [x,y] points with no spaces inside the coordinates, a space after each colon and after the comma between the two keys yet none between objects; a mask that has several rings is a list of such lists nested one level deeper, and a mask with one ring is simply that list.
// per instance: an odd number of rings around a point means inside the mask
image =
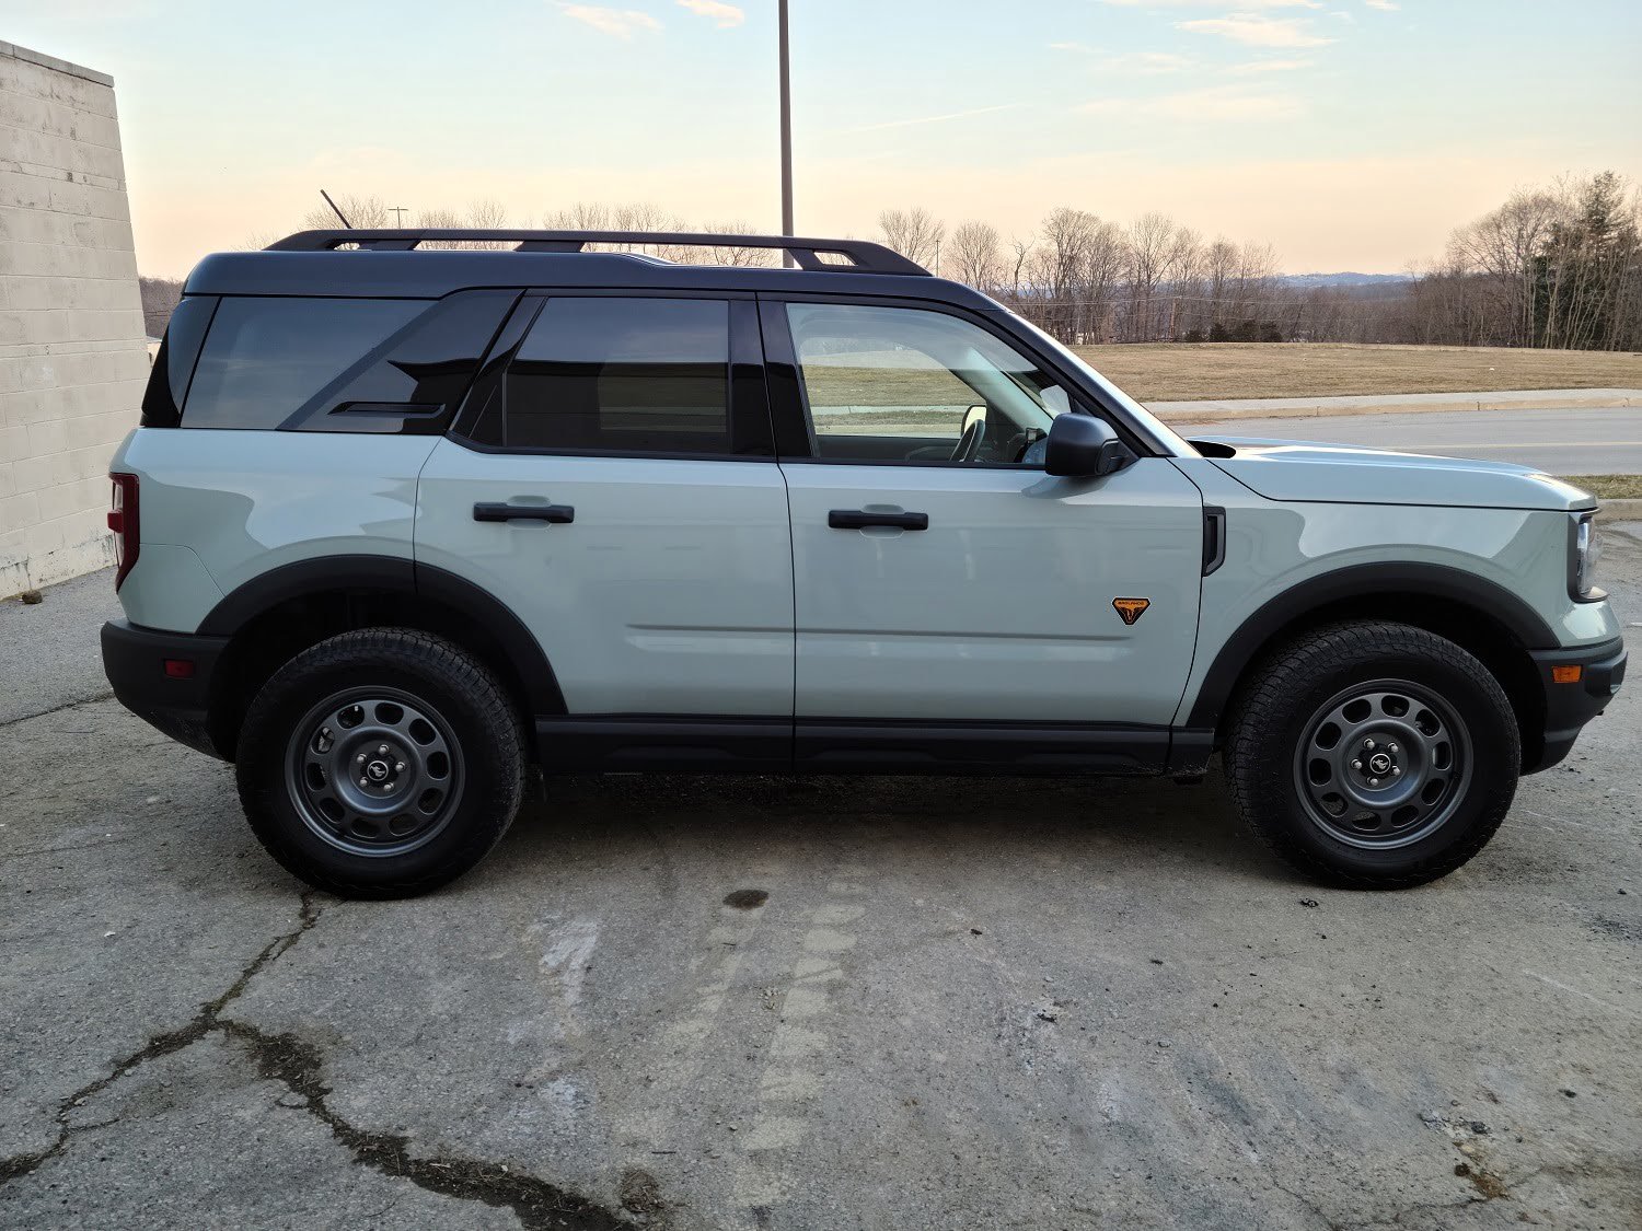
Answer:
[{"label": "black plastic rear bumper with small red reflector", "polygon": [[[227,645],[227,637],[110,620],[102,630],[103,671],[120,704],[140,719],[179,744],[230,760],[210,734],[210,684]],[[172,675],[167,663],[192,663],[192,675]]]}]

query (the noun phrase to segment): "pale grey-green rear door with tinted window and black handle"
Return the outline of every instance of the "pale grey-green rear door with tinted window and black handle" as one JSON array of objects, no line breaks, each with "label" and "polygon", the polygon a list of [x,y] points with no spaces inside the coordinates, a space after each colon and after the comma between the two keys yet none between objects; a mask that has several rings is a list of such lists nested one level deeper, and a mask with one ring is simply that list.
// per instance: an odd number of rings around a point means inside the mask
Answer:
[{"label": "pale grey-green rear door with tinted window and black handle", "polygon": [[752,299],[527,297],[422,469],[417,566],[537,637],[573,717],[793,712],[793,574]]}]

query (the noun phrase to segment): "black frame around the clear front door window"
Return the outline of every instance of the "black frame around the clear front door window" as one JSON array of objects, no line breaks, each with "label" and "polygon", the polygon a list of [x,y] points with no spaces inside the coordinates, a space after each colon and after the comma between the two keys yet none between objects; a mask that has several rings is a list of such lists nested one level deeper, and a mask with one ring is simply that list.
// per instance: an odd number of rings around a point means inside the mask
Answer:
[{"label": "black frame around the clear front door window", "polygon": [[[860,307],[898,307],[939,312],[969,322],[998,341],[1020,351],[1036,363],[1044,373],[1056,378],[1056,382],[1067,391],[1072,414],[1090,414],[1112,425],[1138,456],[1164,456],[1146,437],[1138,433],[1117,407],[1112,407],[1098,391],[1090,389],[1077,373],[1056,363],[1046,355],[1033,338],[1023,338],[1010,332],[993,315],[975,312],[959,304],[947,304],[938,299],[913,299],[906,295],[851,295],[824,292],[760,292],[759,322],[764,333],[764,369],[770,386],[770,417],[775,423],[777,460],[783,464],[811,466],[910,466],[916,469],[1007,469],[1007,471],[1041,471],[1043,466],[1026,466],[1018,461],[951,461],[947,458],[906,460],[906,458],[821,458],[814,453],[814,438],[810,428],[810,412],[803,392],[803,379],[798,369],[798,353],[793,346],[791,328],[787,322],[787,304],[839,304]],[[803,445],[803,451],[796,446]]]}]

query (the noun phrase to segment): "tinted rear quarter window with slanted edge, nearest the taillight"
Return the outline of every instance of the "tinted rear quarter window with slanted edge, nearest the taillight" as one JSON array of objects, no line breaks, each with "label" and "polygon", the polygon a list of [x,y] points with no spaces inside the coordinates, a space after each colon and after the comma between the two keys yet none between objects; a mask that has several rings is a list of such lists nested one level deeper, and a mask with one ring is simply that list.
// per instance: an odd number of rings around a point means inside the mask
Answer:
[{"label": "tinted rear quarter window with slanted edge, nearest the taillight", "polygon": [[415,299],[225,297],[182,423],[279,427],[425,310],[427,300]]}]

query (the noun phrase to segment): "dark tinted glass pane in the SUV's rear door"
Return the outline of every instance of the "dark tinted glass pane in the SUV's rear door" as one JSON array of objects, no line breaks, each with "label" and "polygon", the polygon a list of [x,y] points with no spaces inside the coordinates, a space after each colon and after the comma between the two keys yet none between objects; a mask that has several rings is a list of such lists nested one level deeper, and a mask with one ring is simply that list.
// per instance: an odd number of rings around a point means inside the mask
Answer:
[{"label": "dark tinted glass pane in the SUV's rear door", "polygon": [[550,299],[507,369],[502,443],[731,453],[729,304]]}]

